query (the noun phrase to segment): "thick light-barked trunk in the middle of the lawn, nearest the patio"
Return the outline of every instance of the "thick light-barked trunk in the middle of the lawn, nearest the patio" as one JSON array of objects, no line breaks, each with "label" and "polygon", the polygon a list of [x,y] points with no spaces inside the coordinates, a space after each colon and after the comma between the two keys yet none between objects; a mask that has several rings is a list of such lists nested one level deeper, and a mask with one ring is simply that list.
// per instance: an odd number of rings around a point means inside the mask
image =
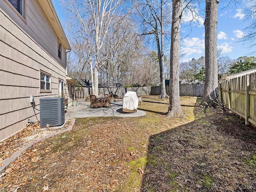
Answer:
[{"label": "thick light-barked trunk in the middle of the lawn, nearest the patio", "polygon": [[180,24],[182,0],[172,1],[172,35],[170,52],[170,104],[167,117],[184,117],[180,106]]}]

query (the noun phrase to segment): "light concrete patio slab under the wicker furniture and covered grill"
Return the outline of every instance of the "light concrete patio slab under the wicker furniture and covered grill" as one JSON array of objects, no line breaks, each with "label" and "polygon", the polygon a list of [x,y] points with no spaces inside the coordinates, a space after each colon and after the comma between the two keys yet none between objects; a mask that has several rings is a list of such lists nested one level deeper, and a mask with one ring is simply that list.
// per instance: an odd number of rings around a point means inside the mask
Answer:
[{"label": "light concrete patio slab under the wicker furniture and covered grill", "polygon": [[137,110],[134,113],[126,113],[122,111],[122,102],[111,102],[111,107],[90,108],[90,102],[78,100],[78,106],[72,106],[72,102],[68,104],[68,112],[65,118],[82,118],[82,117],[138,117],[144,116],[146,113]]}]

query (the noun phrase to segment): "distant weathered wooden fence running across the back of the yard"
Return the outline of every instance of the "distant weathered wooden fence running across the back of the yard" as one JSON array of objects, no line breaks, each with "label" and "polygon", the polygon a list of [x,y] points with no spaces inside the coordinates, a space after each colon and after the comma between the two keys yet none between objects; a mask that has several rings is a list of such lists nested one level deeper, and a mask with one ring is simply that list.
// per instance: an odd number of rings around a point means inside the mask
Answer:
[{"label": "distant weathered wooden fence running across the back of the yard", "polygon": [[[124,96],[127,91],[134,91],[138,96],[142,95],[159,95],[161,93],[160,86],[154,87],[99,87],[99,96],[102,97],[104,94]],[[166,92],[169,95],[169,86],[166,86]],[[204,92],[204,84],[191,84],[191,85],[180,85],[180,96],[196,96],[202,97]],[[79,88],[75,91],[76,98],[88,98],[92,93],[92,88]]]}]

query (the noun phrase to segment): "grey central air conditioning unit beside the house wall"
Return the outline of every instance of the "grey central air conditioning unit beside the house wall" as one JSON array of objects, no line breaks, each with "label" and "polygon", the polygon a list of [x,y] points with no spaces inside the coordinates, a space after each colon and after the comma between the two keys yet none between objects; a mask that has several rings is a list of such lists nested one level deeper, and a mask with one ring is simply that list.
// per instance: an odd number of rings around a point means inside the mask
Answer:
[{"label": "grey central air conditioning unit beside the house wall", "polygon": [[59,126],[65,122],[64,97],[40,99],[40,127]]}]

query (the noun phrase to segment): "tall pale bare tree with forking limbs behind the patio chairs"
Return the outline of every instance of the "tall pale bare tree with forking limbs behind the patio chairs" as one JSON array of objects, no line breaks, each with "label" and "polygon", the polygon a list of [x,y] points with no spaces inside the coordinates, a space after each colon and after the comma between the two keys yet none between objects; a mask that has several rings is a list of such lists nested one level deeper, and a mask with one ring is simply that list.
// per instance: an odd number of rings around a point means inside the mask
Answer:
[{"label": "tall pale bare tree with forking limbs behind the patio chairs", "polygon": [[121,10],[120,0],[62,0],[62,5],[69,12],[72,31],[76,38],[82,39],[90,64],[92,92],[98,96],[98,78],[100,67],[107,55],[101,54],[112,19]]}]

